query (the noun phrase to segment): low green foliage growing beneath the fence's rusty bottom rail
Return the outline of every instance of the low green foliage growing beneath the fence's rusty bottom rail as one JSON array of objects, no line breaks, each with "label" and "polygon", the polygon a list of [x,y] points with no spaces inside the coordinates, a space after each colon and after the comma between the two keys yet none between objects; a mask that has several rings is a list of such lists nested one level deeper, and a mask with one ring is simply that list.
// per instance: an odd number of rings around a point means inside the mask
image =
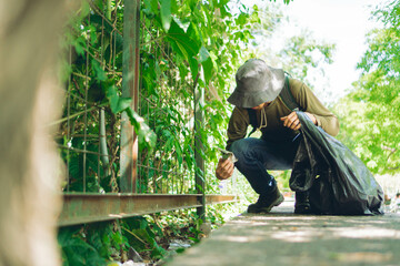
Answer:
[{"label": "low green foliage growing beneath the fence's rusty bottom rail", "polygon": [[[214,211],[209,212],[207,218],[214,225],[222,223],[222,217]],[[170,253],[171,241],[198,243],[204,237],[201,223],[196,209],[184,209],[62,227],[58,233],[62,265],[109,265],[110,262],[127,260],[130,248],[144,260],[157,262]]]}]

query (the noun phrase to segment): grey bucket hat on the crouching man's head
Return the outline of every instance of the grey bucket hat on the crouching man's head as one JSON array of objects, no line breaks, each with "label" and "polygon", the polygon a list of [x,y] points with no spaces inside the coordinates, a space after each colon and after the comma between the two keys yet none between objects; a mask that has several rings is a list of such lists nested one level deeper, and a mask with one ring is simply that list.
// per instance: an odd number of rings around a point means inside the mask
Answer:
[{"label": "grey bucket hat on the crouching man's head", "polygon": [[274,100],[284,85],[284,72],[261,59],[249,59],[236,73],[237,86],[228,102],[239,108],[254,108]]}]

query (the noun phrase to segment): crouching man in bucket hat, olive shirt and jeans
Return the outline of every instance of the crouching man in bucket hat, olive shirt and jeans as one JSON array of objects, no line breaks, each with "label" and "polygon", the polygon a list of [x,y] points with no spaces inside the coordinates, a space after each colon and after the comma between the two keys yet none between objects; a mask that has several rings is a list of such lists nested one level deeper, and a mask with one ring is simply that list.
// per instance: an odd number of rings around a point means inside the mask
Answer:
[{"label": "crouching man in bucket hat, olive shirt and jeans", "polygon": [[[216,175],[227,180],[236,166],[259,194],[248,213],[268,213],[283,202],[268,171],[290,170],[299,145],[301,124],[293,110],[306,112],[313,124],[332,136],[339,133],[339,122],[303,82],[289,79],[283,70],[260,59],[244,62],[237,71],[236,82],[228,99],[234,109],[229,120],[227,150],[238,161],[233,164],[220,158]],[[261,131],[260,139],[246,136],[249,125]],[[309,208],[306,194],[297,193],[294,213],[308,213]]]}]

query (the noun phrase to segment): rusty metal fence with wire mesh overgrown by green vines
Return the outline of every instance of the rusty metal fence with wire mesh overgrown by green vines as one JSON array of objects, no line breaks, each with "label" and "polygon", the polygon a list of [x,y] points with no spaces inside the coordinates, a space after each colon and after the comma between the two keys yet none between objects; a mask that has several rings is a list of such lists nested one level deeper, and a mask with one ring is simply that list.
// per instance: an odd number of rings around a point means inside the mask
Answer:
[{"label": "rusty metal fence with wire mesh overgrown by green vines", "polygon": [[[199,129],[203,92],[140,1],[88,1],[71,19],[63,116],[56,136],[66,163],[60,225],[113,219],[234,200],[204,195]],[[156,133],[148,145],[139,113]]]}]

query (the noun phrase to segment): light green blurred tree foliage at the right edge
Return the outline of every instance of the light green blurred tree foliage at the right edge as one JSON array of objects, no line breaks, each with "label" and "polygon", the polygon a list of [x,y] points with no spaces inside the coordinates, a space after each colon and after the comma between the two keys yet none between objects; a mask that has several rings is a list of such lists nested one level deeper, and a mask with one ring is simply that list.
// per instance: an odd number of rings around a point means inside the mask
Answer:
[{"label": "light green blurred tree foliage at the right edge", "polygon": [[379,174],[400,168],[399,10],[396,0],[373,12],[383,28],[369,33],[369,48],[358,64],[362,75],[337,106],[341,140]]}]

